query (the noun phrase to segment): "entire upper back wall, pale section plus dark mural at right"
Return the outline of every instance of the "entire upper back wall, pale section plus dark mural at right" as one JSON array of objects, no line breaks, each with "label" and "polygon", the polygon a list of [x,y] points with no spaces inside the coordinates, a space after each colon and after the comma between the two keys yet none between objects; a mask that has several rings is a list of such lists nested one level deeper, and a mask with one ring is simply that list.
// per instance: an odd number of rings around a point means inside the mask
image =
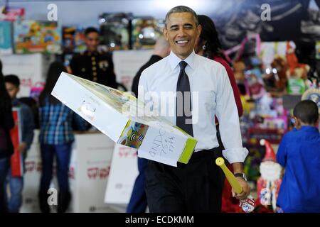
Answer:
[{"label": "entire upper back wall, pale section plus dark mural at right", "polygon": [[[56,4],[63,26],[99,27],[101,13],[165,17],[174,6],[186,5],[213,18],[224,50],[238,45],[250,33],[262,41],[293,40],[301,62],[314,61],[314,43],[320,40],[320,0],[0,0],[0,5],[26,9],[26,19],[47,20],[48,4]],[[262,21],[262,4],[270,4],[271,21]],[[314,64],[314,62],[312,63]]]}]

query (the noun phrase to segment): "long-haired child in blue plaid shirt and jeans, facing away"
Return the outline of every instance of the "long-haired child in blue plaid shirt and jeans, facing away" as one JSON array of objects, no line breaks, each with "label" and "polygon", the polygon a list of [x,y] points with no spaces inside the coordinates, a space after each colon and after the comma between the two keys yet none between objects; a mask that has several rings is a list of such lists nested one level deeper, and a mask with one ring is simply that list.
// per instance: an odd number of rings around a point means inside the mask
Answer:
[{"label": "long-haired child in blue plaid shirt and jeans, facing away", "polygon": [[58,213],[63,213],[68,209],[71,199],[68,170],[72,143],[75,140],[73,119],[78,123],[78,130],[85,131],[85,122],[82,118],[50,95],[61,72],[66,72],[62,63],[53,62],[50,65],[46,86],[39,96],[39,143],[41,144],[42,174],[38,196],[40,209],[43,213],[50,212],[48,189],[53,178],[54,157],[57,162],[59,186]]}]

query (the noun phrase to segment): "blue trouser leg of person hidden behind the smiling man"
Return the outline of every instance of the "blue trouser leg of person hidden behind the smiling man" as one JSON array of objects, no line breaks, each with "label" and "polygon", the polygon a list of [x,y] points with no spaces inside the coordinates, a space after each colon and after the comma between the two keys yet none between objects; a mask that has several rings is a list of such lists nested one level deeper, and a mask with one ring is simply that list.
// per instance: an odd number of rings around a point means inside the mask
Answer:
[{"label": "blue trouser leg of person hidden behind the smiling man", "polygon": [[145,187],[145,172],[148,165],[148,160],[138,157],[139,175],[134,182],[134,188],[127,206],[127,213],[144,213],[146,211],[146,192]]}]

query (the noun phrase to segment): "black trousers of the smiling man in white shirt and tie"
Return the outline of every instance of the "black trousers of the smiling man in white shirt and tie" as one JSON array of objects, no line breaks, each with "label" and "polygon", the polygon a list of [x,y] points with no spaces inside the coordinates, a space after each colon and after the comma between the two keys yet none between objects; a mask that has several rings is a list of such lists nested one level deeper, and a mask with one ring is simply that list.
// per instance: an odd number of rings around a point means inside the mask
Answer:
[{"label": "black trousers of the smiling man in white shirt and tie", "polygon": [[220,212],[223,178],[215,165],[216,151],[193,153],[187,165],[171,167],[148,162],[146,198],[150,212]]}]

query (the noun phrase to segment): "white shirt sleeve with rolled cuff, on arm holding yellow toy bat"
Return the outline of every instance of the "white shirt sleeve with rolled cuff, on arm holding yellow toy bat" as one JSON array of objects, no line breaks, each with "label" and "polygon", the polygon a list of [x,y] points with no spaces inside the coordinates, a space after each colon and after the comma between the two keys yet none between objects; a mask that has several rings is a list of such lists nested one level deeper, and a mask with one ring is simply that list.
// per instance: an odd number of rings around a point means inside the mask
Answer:
[{"label": "white shirt sleeve with rolled cuff, on arm holding yellow toy bat", "polygon": [[215,116],[219,121],[221,140],[225,147],[223,156],[230,163],[244,162],[249,152],[247,148],[242,147],[240,122],[233,89],[225,68],[220,68],[217,71],[217,77],[220,78],[216,80],[218,84],[215,97],[217,104]]}]

